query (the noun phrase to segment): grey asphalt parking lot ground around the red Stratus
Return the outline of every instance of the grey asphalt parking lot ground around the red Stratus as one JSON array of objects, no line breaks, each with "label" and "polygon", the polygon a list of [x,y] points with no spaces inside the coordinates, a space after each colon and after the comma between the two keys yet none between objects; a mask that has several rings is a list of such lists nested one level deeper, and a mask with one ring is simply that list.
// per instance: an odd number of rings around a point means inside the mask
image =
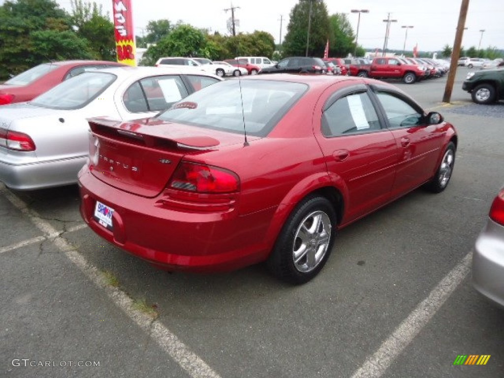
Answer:
[{"label": "grey asphalt parking lot ground around the red Stratus", "polygon": [[[504,131],[498,116],[473,107],[461,90],[467,71],[458,69],[455,105],[441,103],[446,78],[398,84],[459,132],[447,190],[417,190],[342,230],[325,269],[302,286],[283,284],[262,266],[216,275],[155,270],[82,227],[77,187],[2,188],[0,371],[500,376],[503,312],[472,289],[469,254],[504,182]],[[504,104],[495,106],[504,113]],[[115,277],[119,290],[100,272]],[[485,366],[454,366],[461,354],[491,357]],[[58,366],[15,366],[13,359]],[[100,366],[60,366],[81,360]]]}]

